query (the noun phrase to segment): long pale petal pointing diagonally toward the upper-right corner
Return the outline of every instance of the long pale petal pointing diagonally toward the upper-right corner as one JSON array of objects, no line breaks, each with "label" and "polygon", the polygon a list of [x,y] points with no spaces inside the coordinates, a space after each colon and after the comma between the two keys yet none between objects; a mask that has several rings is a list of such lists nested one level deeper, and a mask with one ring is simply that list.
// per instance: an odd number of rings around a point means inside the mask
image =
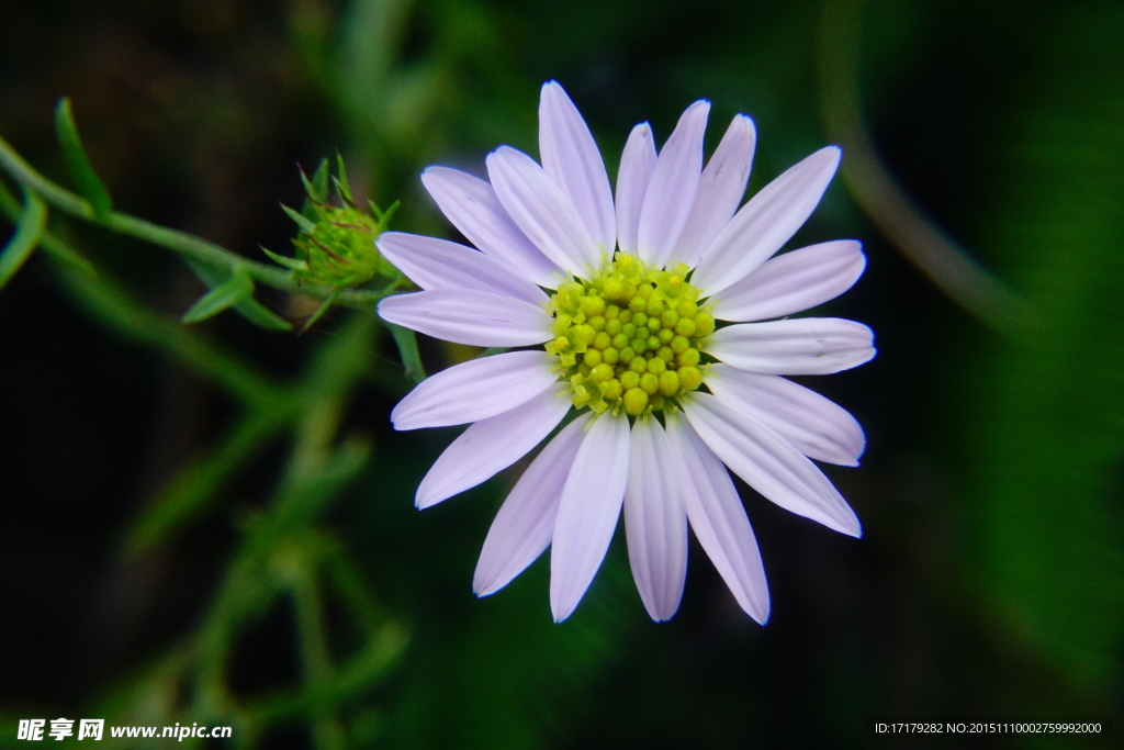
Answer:
[{"label": "long pale petal pointing diagonally toward the upper-right corner", "polygon": [[753,196],[703,251],[691,283],[716,295],[769,260],[812,216],[840,153],[837,146],[821,148]]}]

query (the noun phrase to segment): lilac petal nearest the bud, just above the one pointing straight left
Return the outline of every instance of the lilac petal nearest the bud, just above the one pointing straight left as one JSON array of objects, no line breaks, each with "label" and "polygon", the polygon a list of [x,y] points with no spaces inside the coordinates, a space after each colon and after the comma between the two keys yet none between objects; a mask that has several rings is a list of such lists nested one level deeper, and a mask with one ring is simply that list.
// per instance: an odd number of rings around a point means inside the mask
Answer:
[{"label": "lilac petal nearest the bud, just above the one pointing straight left", "polygon": [[375,244],[388,261],[423,289],[477,289],[533,305],[547,300],[546,292],[504,263],[455,242],[384,232]]}]

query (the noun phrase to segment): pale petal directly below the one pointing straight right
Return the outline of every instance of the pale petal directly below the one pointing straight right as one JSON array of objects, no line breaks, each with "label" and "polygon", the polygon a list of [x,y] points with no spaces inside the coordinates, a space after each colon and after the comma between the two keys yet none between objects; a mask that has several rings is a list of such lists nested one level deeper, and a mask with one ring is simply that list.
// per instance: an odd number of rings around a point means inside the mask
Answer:
[{"label": "pale petal directly below the one pointing straight right", "polygon": [[706,385],[722,408],[760,419],[808,458],[859,466],[867,448],[862,427],[819,394],[780,376],[743,372],[723,362],[710,367]]}]

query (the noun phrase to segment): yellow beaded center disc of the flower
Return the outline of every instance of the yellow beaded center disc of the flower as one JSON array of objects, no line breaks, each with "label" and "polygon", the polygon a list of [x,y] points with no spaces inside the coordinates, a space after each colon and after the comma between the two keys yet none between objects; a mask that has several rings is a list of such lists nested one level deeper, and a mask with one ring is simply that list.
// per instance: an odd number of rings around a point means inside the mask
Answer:
[{"label": "yellow beaded center disc of the flower", "polygon": [[559,286],[547,305],[554,338],[546,353],[559,358],[575,407],[632,416],[670,410],[703,383],[714,316],[699,307],[689,271],[649,270],[618,252],[592,279]]}]

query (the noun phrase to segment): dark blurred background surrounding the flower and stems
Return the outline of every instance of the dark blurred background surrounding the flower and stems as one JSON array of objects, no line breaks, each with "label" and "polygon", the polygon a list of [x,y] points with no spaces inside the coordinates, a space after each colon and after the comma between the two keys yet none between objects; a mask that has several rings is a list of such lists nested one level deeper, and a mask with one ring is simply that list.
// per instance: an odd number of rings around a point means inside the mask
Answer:
[{"label": "dark blurred background surrounding the flower and stems", "polygon": [[[860,11],[850,37],[836,28]],[[278,201],[300,204],[296,165],[336,150],[363,195],[401,199],[395,228],[455,238],[419,171],[480,173],[504,143],[536,154],[538,87],[556,79],[610,178],[637,121],[662,142],[707,98],[713,148],[734,114],[751,115],[751,192],[853,136],[832,108],[854,106],[901,195],[1035,310],[1019,334],[967,311],[880,232],[892,206],[860,206],[836,179],[790,246],[867,249],[865,275],[824,314],[869,324],[879,355],[807,380],[867,430],[862,468],[826,470],[864,536],[740,485],[772,594],[764,627],[694,541],[678,616],[651,623],[620,533],[562,625],[545,557],[478,600],[475,557],[518,467],[416,512],[414,488],[455,431],[389,428],[408,387],[389,337],[344,310],[300,337],[232,314],[193,328],[278,382],[334,367],[323,352],[356,337],[373,362],[330,394],[341,440],[370,450],[294,528],[346,558],[353,599],[374,603],[370,632],[392,623],[400,638],[346,689],[309,693],[296,595],[259,597],[219,635],[207,625],[291,469],[291,436],[262,437],[138,548],[138,519],[190,481],[184,467],[223,444],[239,406],[33,257],[0,292],[0,746],[22,746],[16,722],[29,716],[202,717],[233,724],[238,743],[317,749],[952,748],[966,741],[876,738],[869,717],[1097,716],[1114,719],[1115,738],[987,747],[1118,747],[1120,2],[40,0],[4,3],[0,19],[0,134],[13,147],[65,182],[51,116],[70,96],[119,210],[257,260],[260,244],[288,250]],[[861,99],[839,105],[847,44]],[[852,184],[869,177],[850,169]],[[164,250],[76,223],[56,232],[169,320],[205,289]],[[292,319],[310,311],[259,298]],[[427,341],[422,353],[429,371],[472,354]],[[365,631],[333,590],[320,591],[321,657],[347,665]],[[219,636],[223,674],[200,677],[184,654]],[[282,697],[254,713],[261,696]]]}]

